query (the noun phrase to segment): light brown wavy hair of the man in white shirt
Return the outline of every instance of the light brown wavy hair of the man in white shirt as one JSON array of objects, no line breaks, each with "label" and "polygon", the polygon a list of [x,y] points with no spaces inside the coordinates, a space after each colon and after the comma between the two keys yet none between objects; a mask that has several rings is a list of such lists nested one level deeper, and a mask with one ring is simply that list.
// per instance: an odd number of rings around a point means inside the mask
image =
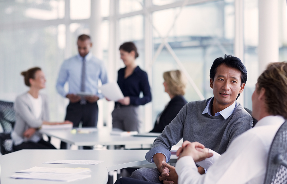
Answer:
[{"label": "light brown wavy hair of the man in white shirt", "polygon": [[287,63],[270,63],[257,80],[257,93],[265,89],[267,111],[287,119]]}]

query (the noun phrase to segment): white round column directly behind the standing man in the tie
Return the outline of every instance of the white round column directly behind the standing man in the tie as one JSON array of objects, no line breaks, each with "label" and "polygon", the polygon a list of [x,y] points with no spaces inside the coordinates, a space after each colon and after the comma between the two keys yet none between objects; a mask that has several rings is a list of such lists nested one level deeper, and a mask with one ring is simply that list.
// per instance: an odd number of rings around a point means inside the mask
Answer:
[{"label": "white round column directly behind the standing man in the tie", "polygon": [[[100,0],[91,1],[91,18],[90,18],[90,35],[92,38],[93,46],[91,48],[92,53],[99,59],[103,58],[103,49],[101,44],[101,8]],[[104,111],[103,101],[98,101],[99,114],[98,114],[98,128],[103,127],[104,124]]]}]

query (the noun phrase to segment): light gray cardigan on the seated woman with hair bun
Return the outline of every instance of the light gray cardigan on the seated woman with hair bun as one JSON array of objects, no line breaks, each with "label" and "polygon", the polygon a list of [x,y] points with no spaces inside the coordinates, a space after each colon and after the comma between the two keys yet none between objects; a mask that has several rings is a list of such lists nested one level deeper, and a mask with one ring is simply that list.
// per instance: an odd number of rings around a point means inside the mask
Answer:
[{"label": "light gray cardigan on the seated woman with hair bun", "polygon": [[44,94],[40,95],[42,97],[42,112],[40,118],[38,119],[36,119],[36,117],[34,116],[32,102],[28,97],[27,93],[24,93],[16,98],[14,103],[16,122],[14,125],[14,130],[11,134],[14,145],[19,145],[22,142],[33,141],[36,140],[37,137],[42,137],[42,135],[38,131],[36,131],[35,134],[29,139],[23,136],[23,133],[28,128],[39,128],[41,127],[43,121],[49,121],[47,96]]}]

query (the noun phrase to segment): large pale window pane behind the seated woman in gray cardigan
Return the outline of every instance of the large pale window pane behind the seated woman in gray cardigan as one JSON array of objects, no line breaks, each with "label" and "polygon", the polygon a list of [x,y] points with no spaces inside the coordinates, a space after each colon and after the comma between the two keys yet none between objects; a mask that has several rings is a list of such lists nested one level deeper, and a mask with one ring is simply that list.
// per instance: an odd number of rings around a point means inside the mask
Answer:
[{"label": "large pale window pane behind the seated woman in gray cardigan", "polygon": [[65,117],[66,101],[55,88],[59,68],[64,60],[64,48],[58,42],[65,28],[46,26],[0,31],[0,99],[14,101],[28,91],[20,72],[39,66],[46,76],[46,87],[41,92],[49,96],[50,120]]}]

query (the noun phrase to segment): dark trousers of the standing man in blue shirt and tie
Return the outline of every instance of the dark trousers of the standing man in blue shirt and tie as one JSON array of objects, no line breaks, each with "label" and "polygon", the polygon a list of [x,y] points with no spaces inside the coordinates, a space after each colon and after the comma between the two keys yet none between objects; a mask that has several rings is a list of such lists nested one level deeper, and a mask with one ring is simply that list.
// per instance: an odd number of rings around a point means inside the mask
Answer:
[{"label": "dark trousers of the standing man in blue shirt and tie", "polygon": [[[79,127],[79,123],[82,121],[82,127],[97,127],[98,123],[98,103],[89,103],[82,104],[69,103],[67,106],[67,112],[65,120],[73,122],[73,127]],[[67,149],[67,144],[61,142],[61,149]],[[84,149],[89,149],[84,146]]]}]

